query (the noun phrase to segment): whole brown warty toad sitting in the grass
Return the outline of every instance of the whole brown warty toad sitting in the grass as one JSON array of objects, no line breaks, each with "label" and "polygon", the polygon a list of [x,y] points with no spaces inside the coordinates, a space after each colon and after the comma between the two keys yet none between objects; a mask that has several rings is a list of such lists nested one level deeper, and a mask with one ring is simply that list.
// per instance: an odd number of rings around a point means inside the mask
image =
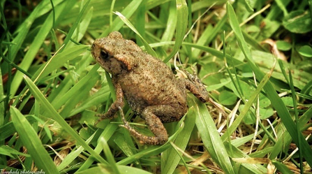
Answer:
[{"label": "whole brown warty toad sitting in the grass", "polygon": [[[209,101],[207,90],[197,76],[184,71],[188,79],[176,78],[163,61],[147,54],[133,41],[124,39],[118,31],[96,39],[91,46],[91,54],[112,75],[117,94],[116,101],[96,124],[112,118],[120,110],[124,122],[121,126],[140,143],[162,145],[168,141],[163,123],[179,121],[187,112],[186,89],[203,103]],[[131,109],[145,120],[154,136],[143,135],[126,122],[121,110],[124,98]]]}]

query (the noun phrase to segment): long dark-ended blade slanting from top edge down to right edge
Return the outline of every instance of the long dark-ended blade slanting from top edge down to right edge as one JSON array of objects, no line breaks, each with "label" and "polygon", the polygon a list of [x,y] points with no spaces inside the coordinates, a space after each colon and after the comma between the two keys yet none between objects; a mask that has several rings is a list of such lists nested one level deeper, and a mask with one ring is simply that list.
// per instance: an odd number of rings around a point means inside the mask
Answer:
[{"label": "long dark-ended blade slanting from top edge down to right edge", "polygon": [[[264,74],[255,65],[255,63],[252,59],[251,52],[248,48],[248,45],[244,41],[244,36],[242,35],[242,31],[239,27],[239,23],[237,21],[236,14],[234,12],[234,9],[230,5],[230,3],[227,3],[226,10],[227,10],[228,17],[230,20],[230,25],[231,25],[234,33],[235,33],[235,36],[237,37],[239,47],[242,49],[242,52],[244,53],[245,58],[248,61],[249,66],[251,66],[253,72],[255,73],[257,80],[262,80]],[[283,101],[281,101],[281,98],[277,95],[272,83],[267,82],[264,89],[265,89],[265,92],[267,94],[267,97],[271,100],[272,105],[276,109],[278,116],[281,117],[283,124],[285,124],[286,129],[290,133],[292,140],[294,140],[297,145],[299,144],[299,140],[301,140],[300,144],[302,145],[304,157],[306,158],[306,161],[308,162],[308,164],[312,165],[312,149],[309,146],[309,143],[307,143],[306,140],[304,140],[304,137],[302,136],[302,134],[300,134],[300,138],[297,137],[296,125],[292,121],[290,113],[288,113],[288,110],[287,110],[285,104],[283,103]]]}]

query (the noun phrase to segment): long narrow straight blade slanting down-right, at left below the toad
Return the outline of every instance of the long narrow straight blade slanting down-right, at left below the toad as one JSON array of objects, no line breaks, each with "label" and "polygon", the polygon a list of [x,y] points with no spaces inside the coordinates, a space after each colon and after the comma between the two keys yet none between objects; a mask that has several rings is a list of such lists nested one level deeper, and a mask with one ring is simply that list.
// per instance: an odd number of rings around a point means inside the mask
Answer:
[{"label": "long narrow straight blade slanting down-right, at left below the toad", "polygon": [[54,110],[51,103],[49,103],[49,101],[45,99],[45,96],[43,96],[43,94],[40,92],[38,87],[36,87],[34,82],[32,82],[27,76],[24,76],[24,81],[26,82],[27,87],[29,87],[31,94],[33,94],[34,97],[43,106],[45,112],[47,112],[52,117],[52,119],[58,122],[59,125],[63,127],[64,131],[67,131],[70,134],[70,136],[72,136],[77,141],[79,145],[82,145],[82,147],[84,147],[84,149],[91,154],[91,156],[93,156],[102,164],[107,165],[107,161],[105,161],[105,159],[103,159],[98,153],[94,152],[94,150],[91,149],[91,147],[89,147],[89,145],[87,145],[87,143],[84,142],[84,140],[78,135],[78,133],[65,122],[63,117],[61,117],[61,115],[59,115],[59,113],[57,113],[57,111]]}]

